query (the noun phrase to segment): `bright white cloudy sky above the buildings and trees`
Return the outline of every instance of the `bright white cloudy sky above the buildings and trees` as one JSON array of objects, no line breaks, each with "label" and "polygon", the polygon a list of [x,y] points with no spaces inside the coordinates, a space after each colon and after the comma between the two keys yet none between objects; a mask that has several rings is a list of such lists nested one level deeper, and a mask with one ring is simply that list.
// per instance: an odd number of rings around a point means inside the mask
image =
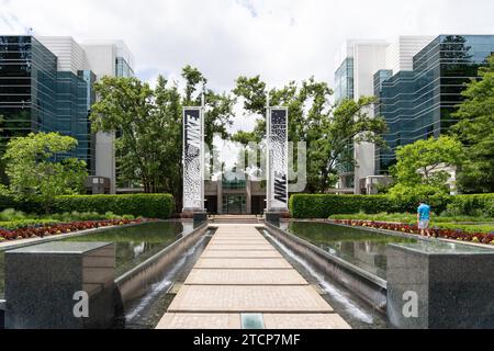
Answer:
[{"label": "bright white cloudy sky above the buildings and trees", "polygon": [[190,64],[222,91],[239,75],[332,82],[347,38],[493,34],[493,0],[0,0],[0,34],[121,38],[142,79]]}]

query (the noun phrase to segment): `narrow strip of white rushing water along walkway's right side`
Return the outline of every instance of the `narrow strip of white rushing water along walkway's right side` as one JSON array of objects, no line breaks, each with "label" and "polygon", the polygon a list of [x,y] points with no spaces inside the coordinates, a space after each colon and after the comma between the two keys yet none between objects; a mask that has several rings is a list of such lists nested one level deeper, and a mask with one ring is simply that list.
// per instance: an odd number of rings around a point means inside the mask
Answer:
[{"label": "narrow strip of white rushing water along walkway's right side", "polygon": [[364,322],[364,324],[372,324],[373,318],[371,315],[369,315],[367,312],[364,312],[362,308],[357,306],[349,297],[346,296],[346,294],[340,291],[338,287],[329,283],[324,275],[317,273],[317,271],[303,258],[301,258],[299,254],[290,250],[287,246],[281,244],[278,239],[272,237],[269,231],[263,230],[265,235],[272,240],[285,254],[288,254],[291,259],[296,261],[299,264],[301,264],[307,272],[311,274],[318,283],[318,285],[332,296],[335,301],[337,301],[341,306],[344,306],[345,312],[350,315],[351,317]]}]

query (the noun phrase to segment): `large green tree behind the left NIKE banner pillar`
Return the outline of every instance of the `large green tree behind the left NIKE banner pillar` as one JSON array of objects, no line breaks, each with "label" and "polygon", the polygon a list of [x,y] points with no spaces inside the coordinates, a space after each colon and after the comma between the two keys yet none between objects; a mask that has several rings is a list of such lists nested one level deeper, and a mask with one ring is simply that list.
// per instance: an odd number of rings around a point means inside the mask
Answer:
[{"label": "large green tree behind the left NIKE banner pillar", "polygon": [[205,141],[227,135],[234,100],[206,88],[207,80],[193,67],[183,68],[183,94],[162,76],[151,89],[137,78],[105,77],[94,86],[100,97],[91,109],[93,132],[116,133],[119,177],[138,181],[145,192],[169,192],[181,208],[182,107],[205,100]]}]

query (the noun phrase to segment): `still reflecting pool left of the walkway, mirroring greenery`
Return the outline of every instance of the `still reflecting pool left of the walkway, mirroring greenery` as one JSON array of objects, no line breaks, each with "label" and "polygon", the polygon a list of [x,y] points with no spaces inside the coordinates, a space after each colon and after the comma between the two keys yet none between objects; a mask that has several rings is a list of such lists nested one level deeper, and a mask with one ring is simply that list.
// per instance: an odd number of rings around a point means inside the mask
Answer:
[{"label": "still reflecting pool left of the walkway, mirroring greenery", "polygon": [[[122,228],[102,229],[63,239],[74,242],[115,242],[115,276],[120,276],[193,230],[190,223],[156,222]],[[0,251],[0,298],[4,288],[4,252]]]}]

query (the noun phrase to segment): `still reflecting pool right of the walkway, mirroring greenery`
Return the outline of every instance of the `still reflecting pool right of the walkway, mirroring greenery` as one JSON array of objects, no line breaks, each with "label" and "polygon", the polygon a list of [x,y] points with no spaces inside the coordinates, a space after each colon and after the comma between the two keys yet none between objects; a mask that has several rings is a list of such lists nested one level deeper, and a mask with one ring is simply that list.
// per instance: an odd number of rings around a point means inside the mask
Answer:
[{"label": "still reflecting pool right of the walkway, mirroring greenery", "polygon": [[282,223],[280,228],[384,280],[386,279],[388,244],[417,241],[327,223],[290,222]]}]

